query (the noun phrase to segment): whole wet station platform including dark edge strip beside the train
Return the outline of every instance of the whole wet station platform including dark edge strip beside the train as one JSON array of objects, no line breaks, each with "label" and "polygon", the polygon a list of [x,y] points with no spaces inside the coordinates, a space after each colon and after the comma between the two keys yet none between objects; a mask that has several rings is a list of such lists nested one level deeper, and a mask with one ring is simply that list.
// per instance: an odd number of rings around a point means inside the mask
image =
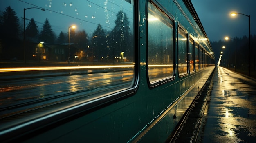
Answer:
[{"label": "whole wet station platform including dark edge strip beside the train", "polygon": [[256,79],[216,67],[209,85],[173,142],[256,143]]}]

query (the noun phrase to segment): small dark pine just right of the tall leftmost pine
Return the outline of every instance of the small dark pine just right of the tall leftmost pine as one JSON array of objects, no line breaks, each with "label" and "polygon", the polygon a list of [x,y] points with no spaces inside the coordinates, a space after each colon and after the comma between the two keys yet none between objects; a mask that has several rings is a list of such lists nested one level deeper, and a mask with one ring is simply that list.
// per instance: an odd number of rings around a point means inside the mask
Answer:
[{"label": "small dark pine just right of the tall leftmost pine", "polygon": [[39,34],[38,26],[36,25],[34,18],[31,18],[26,28],[26,36],[36,40],[36,38],[38,37],[38,34]]}]

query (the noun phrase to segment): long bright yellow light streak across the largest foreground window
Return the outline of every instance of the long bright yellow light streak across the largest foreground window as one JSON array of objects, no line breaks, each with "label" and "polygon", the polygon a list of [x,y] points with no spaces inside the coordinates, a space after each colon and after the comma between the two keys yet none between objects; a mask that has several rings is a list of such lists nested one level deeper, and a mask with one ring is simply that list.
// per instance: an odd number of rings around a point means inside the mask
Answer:
[{"label": "long bright yellow light streak across the largest foreground window", "polygon": [[0,68],[0,72],[36,71],[36,70],[69,70],[69,69],[93,69],[93,68],[133,68],[134,65],[116,66],[61,66],[61,67],[25,67],[25,68]]}]

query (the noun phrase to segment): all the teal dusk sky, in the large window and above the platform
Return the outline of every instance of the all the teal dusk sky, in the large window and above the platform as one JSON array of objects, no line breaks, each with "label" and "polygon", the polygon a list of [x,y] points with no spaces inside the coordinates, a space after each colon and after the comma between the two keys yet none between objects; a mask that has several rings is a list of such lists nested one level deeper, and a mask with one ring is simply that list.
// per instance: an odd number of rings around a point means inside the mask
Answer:
[{"label": "all the teal dusk sky, in the large window and above the platform", "polygon": [[[103,0],[98,1],[84,0],[80,1],[84,4],[76,4],[76,0],[1,0],[0,11],[5,11],[5,8],[10,5],[16,11],[22,24],[23,8],[42,7],[46,11],[27,9],[26,18],[34,18],[39,29],[42,28],[45,19],[48,18],[57,36],[61,31],[67,32],[68,26],[72,24],[76,24],[78,30],[85,29],[89,35],[93,33],[99,23],[104,29],[111,29],[114,26],[115,15],[120,9],[124,9],[128,14],[130,23],[132,23],[131,11],[133,9],[128,2],[115,0],[115,3],[120,2],[122,5],[122,7],[117,7],[116,4],[112,3],[114,0],[108,1],[108,3],[103,3]],[[231,12],[250,15],[251,35],[256,34],[256,0],[191,0],[191,2],[210,41],[224,40],[225,36],[243,37],[246,35],[248,37],[249,18],[240,14],[231,17]],[[106,12],[103,8],[105,6],[116,11]],[[67,17],[65,14],[71,17]],[[109,19],[108,22],[106,18]],[[26,24],[28,22],[27,20]],[[91,28],[88,29],[88,27]]]}]

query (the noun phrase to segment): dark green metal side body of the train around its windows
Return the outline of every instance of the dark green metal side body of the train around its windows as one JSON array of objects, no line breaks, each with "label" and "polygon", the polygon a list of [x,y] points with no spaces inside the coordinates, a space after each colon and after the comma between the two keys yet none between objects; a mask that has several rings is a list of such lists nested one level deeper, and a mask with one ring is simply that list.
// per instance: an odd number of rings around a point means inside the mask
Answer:
[{"label": "dark green metal side body of the train around its windows", "polygon": [[[154,3],[155,2],[155,3]],[[175,37],[177,28],[181,24],[188,33],[198,39],[205,37],[188,9],[179,1],[153,1],[166,15],[175,18]],[[75,117],[68,118],[68,122],[57,124],[54,128],[46,130],[26,142],[164,142],[175,130],[184,113],[203,87],[214,66],[184,77],[179,77],[178,59],[175,60],[175,78],[167,83],[150,88],[147,73],[147,27],[146,0],[138,2],[139,7],[139,87],[135,95],[126,97],[115,103],[103,105],[102,108],[93,109],[91,112],[81,112]],[[163,7],[165,6],[165,7]],[[164,9],[165,8],[165,9]],[[183,12],[186,12],[186,16]],[[192,22],[192,23],[191,23]],[[191,25],[193,24],[193,25]],[[196,29],[195,29],[196,27]],[[200,42],[200,41],[199,41]],[[200,42],[204,45],[204,42]],[[208,46],[208,45],[207,45]],[[177,41],[175,42],[175,51]],[[175,56],[177,58],[177,55]]]}]

